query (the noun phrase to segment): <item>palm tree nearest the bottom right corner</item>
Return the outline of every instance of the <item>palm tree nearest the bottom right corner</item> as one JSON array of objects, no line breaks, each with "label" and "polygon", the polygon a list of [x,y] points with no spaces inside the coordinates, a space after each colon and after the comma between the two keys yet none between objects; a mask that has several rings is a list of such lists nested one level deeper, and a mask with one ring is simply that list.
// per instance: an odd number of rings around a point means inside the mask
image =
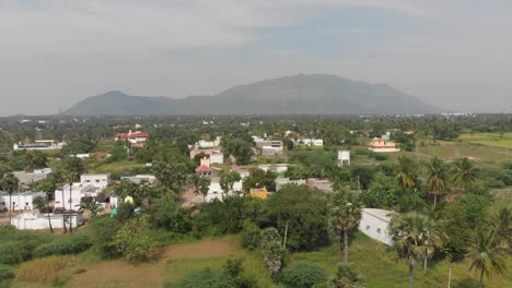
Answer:
[{"label": "palm tree nearest the bottom right corner", "polygon": [[469,247],[468,257],[472,259],[469,271],[480,271],[480,288],[484,287],[484,275],[501,275],[507,272],[505,248],[498,244],[492,231],[479,231]]}]

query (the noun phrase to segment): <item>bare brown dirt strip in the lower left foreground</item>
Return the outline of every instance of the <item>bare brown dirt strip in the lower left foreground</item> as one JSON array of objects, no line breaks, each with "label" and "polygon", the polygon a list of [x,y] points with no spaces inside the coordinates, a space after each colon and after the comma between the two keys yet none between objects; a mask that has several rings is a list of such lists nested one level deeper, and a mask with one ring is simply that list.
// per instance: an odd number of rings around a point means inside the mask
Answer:
[{"label": "bare brown dirt strip in the lower left foreground", "polygon": [[130,288],[162,287],[163,269],[167,260],[201,259],[230,255],[236,250],[232,239],[205,240],[190,244],[170,245],[155,263],[131,265],[120,260],[101,262],[85,267],[82,274],[73,275],[72,288]]}]

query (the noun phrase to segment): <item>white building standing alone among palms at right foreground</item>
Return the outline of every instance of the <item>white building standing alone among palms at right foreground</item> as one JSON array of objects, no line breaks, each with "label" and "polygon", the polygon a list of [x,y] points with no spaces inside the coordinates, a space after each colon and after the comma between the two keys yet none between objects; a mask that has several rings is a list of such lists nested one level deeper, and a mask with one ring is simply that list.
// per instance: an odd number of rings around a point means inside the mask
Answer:
[{"label": "white building standing alone among palms at right foreground", "polygon": [[374,240],[393,245],[388,229],[394,213],[394,211],[363,208],[359,230]]}]

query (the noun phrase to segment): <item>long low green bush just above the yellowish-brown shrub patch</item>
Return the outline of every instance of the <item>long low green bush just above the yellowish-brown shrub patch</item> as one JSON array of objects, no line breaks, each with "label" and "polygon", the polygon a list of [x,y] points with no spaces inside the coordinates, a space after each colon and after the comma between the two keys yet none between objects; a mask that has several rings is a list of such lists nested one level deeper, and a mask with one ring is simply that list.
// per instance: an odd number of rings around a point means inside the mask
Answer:
[{"label": "long low green bush just above the yellowish-brown shrub patch", "polygon": [[90,247],[91,241],[89,237],[84,233],[75,232],[37,247],[34,250],[34,256],[77,254],[88,250]]}]

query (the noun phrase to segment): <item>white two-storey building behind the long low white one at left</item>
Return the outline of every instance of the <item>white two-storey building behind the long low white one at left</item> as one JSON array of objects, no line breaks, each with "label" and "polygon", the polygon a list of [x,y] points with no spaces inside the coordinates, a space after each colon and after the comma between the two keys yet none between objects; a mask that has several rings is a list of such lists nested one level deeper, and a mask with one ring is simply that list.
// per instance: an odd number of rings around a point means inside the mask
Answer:
[{"label": "white two-storey building behind the long low white one at left", "polygon": [[[78,209],[83,197],[97,197],[103,192],[103,188],[98,188],[93,183],[72,183],[71,192],[69,184],[62,189],[55,191],[55,207],[62,207],[65,204],[66,209]],[[63,199],[62,199],[63,194]]]}]

